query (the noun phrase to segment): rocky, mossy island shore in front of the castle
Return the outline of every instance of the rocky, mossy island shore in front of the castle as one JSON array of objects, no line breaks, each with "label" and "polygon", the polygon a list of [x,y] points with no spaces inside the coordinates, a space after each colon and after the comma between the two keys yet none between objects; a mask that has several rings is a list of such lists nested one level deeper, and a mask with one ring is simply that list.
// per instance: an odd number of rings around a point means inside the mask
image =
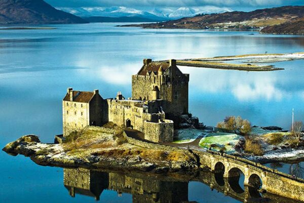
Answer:
[{"label": "rocky, mossy island shore in front of the castle", "polygon": [[[107,134],[105,137],[109,137]],[[108,138],[99,138],[98,142],[108,142]],[[112,140],[116,142],[115,140]],[[142,171],[151,173],[193,172],[198,170],[196,157],[188,150],[167,151],[161,149],[144,149],[129,143],[117,146],[67,150],[65,144],[44,144],[34,135],[23,136],[9,143],[3,151],[17,156],[30,157],[36,164],[43,166],[83,167],[87,169],[114,169],[125,171]],[[88,147],[88,146],[87,146]],[[150,156],[155,154],[156,156]]]}]

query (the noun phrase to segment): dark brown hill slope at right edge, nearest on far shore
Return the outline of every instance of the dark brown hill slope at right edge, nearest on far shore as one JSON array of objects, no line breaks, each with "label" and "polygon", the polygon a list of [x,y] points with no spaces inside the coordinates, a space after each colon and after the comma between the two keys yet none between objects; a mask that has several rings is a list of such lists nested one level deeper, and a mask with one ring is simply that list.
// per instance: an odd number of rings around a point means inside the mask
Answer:
[{"label": "dark brown hill slope at right edge, nearest on far shore", "polygon": [[304,35],[304,18],[296,18],[291,21],[273,26],[267,26],[261,33]]}]

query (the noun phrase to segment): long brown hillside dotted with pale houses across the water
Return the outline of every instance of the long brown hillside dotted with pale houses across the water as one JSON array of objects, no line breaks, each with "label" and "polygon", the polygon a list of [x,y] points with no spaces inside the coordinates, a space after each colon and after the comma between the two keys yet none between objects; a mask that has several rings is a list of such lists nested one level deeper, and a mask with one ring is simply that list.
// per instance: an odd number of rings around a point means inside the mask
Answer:
[{"label": "long brown hillside dotted with pale houses across the water", "polygon": [[[191,10],[186,11],[191,12]],[[234,11],[219,14],[201,14],[195,17],[134,26],[141,26],[143,28],[260,29],[300,17],[304,17],[304,6],[286,6],[251,12]]]}]

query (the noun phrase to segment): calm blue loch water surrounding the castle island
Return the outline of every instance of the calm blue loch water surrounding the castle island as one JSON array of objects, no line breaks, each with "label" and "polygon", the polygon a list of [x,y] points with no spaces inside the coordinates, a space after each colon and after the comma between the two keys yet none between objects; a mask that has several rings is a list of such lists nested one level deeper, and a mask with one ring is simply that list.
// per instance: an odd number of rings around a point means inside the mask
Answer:
[{"label": "calm blue loch water surrounding the castle island", "polygon": [[[54,135],[62,131],[61,99],[67,87],[99,89],[104,98],[118,91],[130,97],[131,75],[140,69],[143,58],[304,51],[304,37],[256,32],[151,30],[98,23],[52,26],[58,29],[0,31],[0,147],[29,133],[53,142]],[[285,71],[180,67],[190,74],[189,110],[207,125],[215,125],[227,115],[240,115],[254,125],[288,129],[292,108],[295,119],[304,120],[304,60],[276,65]],[[281,168],[288,173],[288,166]],[[23,156],[0,152],[0,172],[0,202],[95,201],[84,195],[70,197],[61,168],[37,166]],[[188,199],[238,202],[210,190],[201,182],[190,182]],[[131,194],[119,196],[117,191],[104,190],[100,198],[132,201]]]}]

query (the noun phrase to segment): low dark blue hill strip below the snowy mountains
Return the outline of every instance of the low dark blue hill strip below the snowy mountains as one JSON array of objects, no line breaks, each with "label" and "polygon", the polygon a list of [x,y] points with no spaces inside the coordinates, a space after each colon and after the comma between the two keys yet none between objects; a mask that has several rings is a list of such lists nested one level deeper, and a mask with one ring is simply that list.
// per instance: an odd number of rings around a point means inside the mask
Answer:
[{"label": "low dark blue hill strip below the snowy mountains", "polygon": [[92,16],[84,18],[89,22],[155,22],[156,20],[141,17],[103,17],[103,16]]}]

